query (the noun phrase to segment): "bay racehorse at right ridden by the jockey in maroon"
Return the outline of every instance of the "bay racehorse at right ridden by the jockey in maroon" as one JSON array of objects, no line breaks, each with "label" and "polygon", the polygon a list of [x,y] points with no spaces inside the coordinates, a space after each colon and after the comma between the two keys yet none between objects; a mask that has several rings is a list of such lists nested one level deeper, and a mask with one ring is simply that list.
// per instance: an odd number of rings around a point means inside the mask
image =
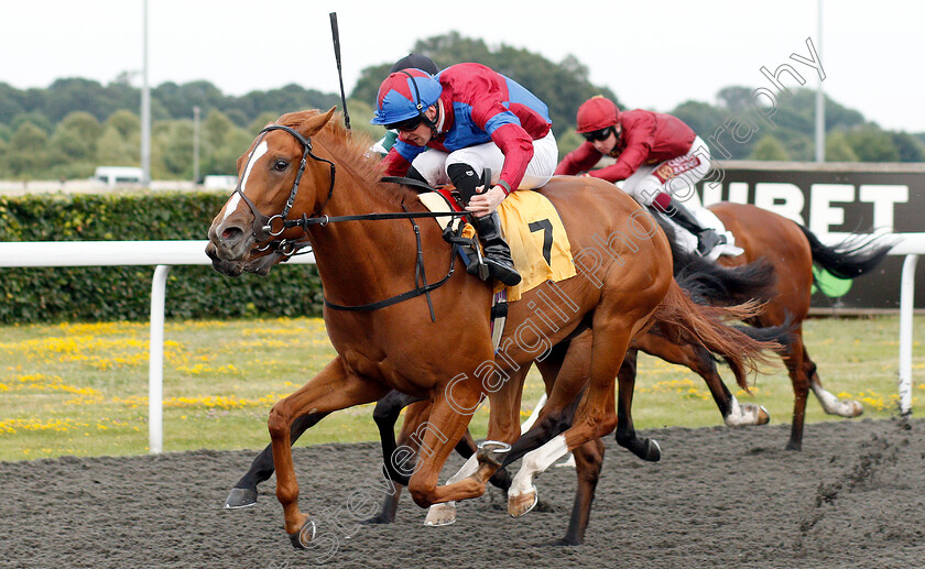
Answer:
[{"label": "bay racehorse at right ridden by the jockey in maroon", "polygon": [[[809,315],[814,284],[813,266],[821,267],[839,278],[856,278],[873,271],[890,252],[893,243],[882,236],[851,236],[839,244],[826,245],[806,227],[766,209],[733,203],[715,204],[709,209],[719,217],[726,229],[732,232],[736,244],[744,249],[744,253],[738,256],[720,256],[719,263],[726,266],[744,266],[747,263],[760,261],[771,269],[771,286],[762,293],[762,298],[766,300],[765,308],[749,324],[757,327],[785,326],[791,329],[788,337],[780,339],[785,348],[782,357],[794,393],[793,423],[785,448],[801,450],[806,401],[810,390],[829,415],[857,417],[863,413],[859,402],[841,401],[823,386],[816,363],[806,350],[803,322]],[[711,303],[722,300],[721,295],[710,298]],[[741,298],[730,295],[726,302],[738,303]],[[704,377],[727,425],[768,422],[766,413],[743,413],[742,406],[722,384],[712,359],[703,348],[670,342],[655,335],[640,338],[634,348],[668,362],[685,365]],[[635,349],[628,352],[627,362],[635,361]],[[620,383],[623,385],[625,382],[627,393],[632,393],[630,377],[629,372],[620,374]],[[620,406],[619,411],[621,417],[625,411],[627,422],[631,426],[629,406]]]}]

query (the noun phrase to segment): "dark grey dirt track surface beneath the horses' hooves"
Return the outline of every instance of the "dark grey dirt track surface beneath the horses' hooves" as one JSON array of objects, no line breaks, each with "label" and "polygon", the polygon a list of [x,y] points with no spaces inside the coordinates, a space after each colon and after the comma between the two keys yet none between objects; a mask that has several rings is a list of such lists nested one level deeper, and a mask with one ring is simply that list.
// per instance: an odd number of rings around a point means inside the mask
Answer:
[{"label": "dark grey dirt track surface beneath the horses' hooves", "polygon": [[925,420],[906,426],[810,425],[803,452],[783,450],[786,425],[650,430],[655,464],[609,438],[579,547],[547,545],[565,534],[569,468],[538,479],[540,504],[520,519],[492,488],[451,526],[424,527],[406,493],[395,524],[367,526],[350,501],[381,483],[377,447],[300,448],[301,503],[324,539],[295,551],[275,479],[257,507],[224,510],[252,451],[0,462],[0,567],[923,567]]}]

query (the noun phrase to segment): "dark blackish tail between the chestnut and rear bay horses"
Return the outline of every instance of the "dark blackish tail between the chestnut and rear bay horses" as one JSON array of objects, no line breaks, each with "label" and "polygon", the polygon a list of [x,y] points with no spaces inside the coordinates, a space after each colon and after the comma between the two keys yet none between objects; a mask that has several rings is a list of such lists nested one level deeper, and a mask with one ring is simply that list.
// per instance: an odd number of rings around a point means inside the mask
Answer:
[{"label": "dark blackish tail between the chestnut and rear bay horses", "polygon": [[[656,216],[661,220],[661,216]],[[752,298],[768,299],[774,287],[774,266],[761,259],[740,266],[722,266],[704,259],[697,253],[682,249],[675,238],[674,228],[662,222],[668,238],[674,261],[674,275],[699,303],[740,304]]]}]

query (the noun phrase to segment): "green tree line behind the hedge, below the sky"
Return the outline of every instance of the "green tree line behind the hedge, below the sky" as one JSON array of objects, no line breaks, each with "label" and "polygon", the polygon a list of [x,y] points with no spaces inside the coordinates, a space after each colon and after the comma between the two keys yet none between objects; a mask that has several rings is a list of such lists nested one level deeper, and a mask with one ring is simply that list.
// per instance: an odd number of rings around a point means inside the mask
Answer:
[{"label": "green tree line behind the hedge, below the sky", "polygon": [[[411,51],[429,56],[439,67],[478,62],[518,80],[548,106],[563,154],[581,142],[574,131],[575,112],[587,98],[602,94],[620,108],[634,108],[625,107],[610,89],[591,84],[588,68],[573,56],[554,63],[518,47],[489,47],[456,32],[420,40]],[[364,68],[348,100],[351,125],[372,138],[383,131],[369,124],[371,105],[391,65]],[[731,86],[720,90],[712,103],[690,100],[667,112],[708,140],[730,121],[749,120],[752,91]],[[140,90],[124,79],[104,86],[65,78],[45,89],[0,83],[0,179],[86,178],[98,165],[139,165],[140,99]],[[199,173],[205,176],[233,174],[235,161],[254,133],[280,114],[333,106],[340,106],[339,95],[294,84],[241,97],[225,95],[208,81],[162,84],[151,90],[152,176],[192,179],[194,107],[202,109]],[[795,89],[779,98],[773,127],[755,128],[747,140],[725,147],[728,155],[721,157],[813,160],[814,113],[815,94]],[[831,99],[826,100],[826,131],[827,161],[925,162],[925,133],[881,129]]]}]

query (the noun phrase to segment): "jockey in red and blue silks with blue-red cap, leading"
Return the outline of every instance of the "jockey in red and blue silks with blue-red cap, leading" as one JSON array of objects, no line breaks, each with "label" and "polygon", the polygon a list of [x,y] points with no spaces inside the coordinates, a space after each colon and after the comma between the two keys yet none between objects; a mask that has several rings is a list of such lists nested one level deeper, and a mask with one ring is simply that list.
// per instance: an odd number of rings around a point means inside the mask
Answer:
[{"label": "jockey in red and blue silks with blue-red cap, leading", "polygon": [[[399,131],[383,158],[387,174],[403,176],[413,164],[431,185],[453,182],[472,214],[489,275],[518,284],[494,210],[511,192],[553,176],[558,150],[546,105],[516,81],[464,63],[435,76],[421,69],[389,75],[370,122]],[[481,185],[486,168],[490,188]]]}]

